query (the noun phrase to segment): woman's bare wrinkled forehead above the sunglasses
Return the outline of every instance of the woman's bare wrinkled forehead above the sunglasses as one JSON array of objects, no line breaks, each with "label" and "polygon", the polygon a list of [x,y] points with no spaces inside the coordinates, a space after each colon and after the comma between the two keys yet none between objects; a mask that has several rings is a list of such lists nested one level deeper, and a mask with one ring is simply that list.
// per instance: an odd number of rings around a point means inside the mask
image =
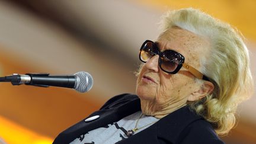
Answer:
[{"label": "woman's bare wrinkled forehead above the sunglasses", "polygon": [[172,49],[181,53],[187,60],[198,59],[200,55],[207,55],[209,41],[190,31],[173,27],[162,33],[156,41],[161,51]]}]

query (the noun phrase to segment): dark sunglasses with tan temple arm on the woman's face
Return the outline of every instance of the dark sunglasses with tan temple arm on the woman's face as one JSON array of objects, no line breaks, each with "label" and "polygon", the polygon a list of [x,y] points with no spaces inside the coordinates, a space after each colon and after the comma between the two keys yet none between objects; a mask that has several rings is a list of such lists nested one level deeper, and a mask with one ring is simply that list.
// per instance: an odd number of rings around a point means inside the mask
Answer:
[{"label": "dark sunglasses with tan temple arm on the woman's face", "polygon": [[185,57],[180,53],[175,52],[174,50],[164,50],[163,52],[160,52],[153,41],[146,40],[142,44],[142,47],[140,47],[139,59],[146,63],[155,55],[159,55],[158,65],[164,72],[175,74],[180,71],[183,66],[197,78],[209,81],[207,76],[185,63]]}]

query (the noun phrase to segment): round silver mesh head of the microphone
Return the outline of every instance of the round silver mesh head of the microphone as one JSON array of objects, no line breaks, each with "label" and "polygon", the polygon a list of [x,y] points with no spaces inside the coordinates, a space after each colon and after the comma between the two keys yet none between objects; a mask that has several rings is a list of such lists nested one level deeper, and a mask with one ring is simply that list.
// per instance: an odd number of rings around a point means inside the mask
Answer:
[{"label": "round silver mesh head of the microphone", "polygon": [[92,88],[93,79],[88,72],[76,72],[76,82],[74,89],[79,92],[87,92]]}]

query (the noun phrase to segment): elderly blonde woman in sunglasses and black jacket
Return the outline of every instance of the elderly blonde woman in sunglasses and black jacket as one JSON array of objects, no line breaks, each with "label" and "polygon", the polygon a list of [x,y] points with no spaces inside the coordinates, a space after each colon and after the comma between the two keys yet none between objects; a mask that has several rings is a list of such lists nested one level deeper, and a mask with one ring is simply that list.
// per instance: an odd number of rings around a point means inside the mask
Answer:
[{"label": "elderly blonde woman in sunglasses and black jacket", "polygon": [[53,143],[223,143],[252,89],[238,33],[197,9],[170,11],[140,48],[137,95],[111,98]]}]

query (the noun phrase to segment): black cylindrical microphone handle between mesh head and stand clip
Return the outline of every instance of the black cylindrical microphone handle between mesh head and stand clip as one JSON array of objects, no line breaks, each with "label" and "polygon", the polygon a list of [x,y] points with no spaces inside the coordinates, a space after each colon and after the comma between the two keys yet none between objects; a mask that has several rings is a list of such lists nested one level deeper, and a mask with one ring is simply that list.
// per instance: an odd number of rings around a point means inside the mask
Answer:
[{"label": "black cylindrical microphone handle between mesh head and stand clip", "polygon": [[54,76],[42,73],[27,73],[25,75],[30,75],[31,80],[25,85],[35,85],[39,87],[65,87],[65,88],[74,88],[76,83],[75,75],[63,75],[63,76]]}]

